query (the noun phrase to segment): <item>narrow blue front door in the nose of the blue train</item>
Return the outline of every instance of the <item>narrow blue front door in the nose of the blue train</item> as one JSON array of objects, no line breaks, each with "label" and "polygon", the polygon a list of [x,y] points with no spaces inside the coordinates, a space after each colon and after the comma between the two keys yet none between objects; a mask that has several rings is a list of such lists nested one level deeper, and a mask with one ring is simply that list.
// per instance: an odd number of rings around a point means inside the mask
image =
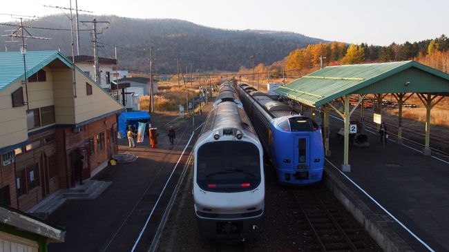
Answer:
[{"label": "narrow blue front door in the nose of the blue train", "polygon": [[296,137],[296,180],[307,180],[310,167],[310,142],[309,135],[298,135]]}]

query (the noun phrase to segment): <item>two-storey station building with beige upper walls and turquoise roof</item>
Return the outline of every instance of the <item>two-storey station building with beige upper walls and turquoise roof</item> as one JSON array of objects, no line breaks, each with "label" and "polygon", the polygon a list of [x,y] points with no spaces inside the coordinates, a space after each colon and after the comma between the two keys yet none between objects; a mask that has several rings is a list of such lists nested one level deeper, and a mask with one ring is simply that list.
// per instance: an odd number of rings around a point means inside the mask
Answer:
[{"label": "two-storey station building with beige upper walls and turquoise roof", "polygon": [[84,179],[106,166],[124,110],[61,52],[25,59],[26,72],[21,52],[0,52],[0,203],[21,211],[75,186],[79,155]]}]

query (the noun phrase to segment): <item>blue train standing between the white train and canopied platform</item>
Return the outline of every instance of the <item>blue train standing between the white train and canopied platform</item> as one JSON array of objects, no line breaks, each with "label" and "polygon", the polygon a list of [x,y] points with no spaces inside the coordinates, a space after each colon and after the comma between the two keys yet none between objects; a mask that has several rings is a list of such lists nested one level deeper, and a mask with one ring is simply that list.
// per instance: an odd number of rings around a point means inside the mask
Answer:
[{"label": "blue train standing between the white train and canopied platform", "polygon": [[320,182],[324,166],[321,127],[245,83],[236,88],[279,181],[292,185]]}]

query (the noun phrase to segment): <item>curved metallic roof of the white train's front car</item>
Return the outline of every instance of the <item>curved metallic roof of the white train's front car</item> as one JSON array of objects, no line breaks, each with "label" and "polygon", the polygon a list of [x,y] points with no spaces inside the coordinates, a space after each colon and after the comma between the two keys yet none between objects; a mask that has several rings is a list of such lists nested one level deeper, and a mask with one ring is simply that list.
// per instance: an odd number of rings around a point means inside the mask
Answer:
[{"label": "curved metallic roof of the white train's front car", "polygon": [[232,101],[223,101],[209,113],[202,133],[220,130],[222,128],[236,128],[256,134],[242,107]]}]

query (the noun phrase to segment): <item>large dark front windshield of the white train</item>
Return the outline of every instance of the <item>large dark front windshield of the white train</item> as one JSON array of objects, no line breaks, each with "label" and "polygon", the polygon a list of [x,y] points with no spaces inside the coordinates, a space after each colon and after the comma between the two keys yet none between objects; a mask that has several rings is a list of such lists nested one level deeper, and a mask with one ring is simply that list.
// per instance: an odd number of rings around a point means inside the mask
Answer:
[{"label": "large dark front windshield of the white train", "polygon": [[258,148],[249,142],[218,141],[198,149],[197,182],[204,191],[249,191],[260,184]]}]

